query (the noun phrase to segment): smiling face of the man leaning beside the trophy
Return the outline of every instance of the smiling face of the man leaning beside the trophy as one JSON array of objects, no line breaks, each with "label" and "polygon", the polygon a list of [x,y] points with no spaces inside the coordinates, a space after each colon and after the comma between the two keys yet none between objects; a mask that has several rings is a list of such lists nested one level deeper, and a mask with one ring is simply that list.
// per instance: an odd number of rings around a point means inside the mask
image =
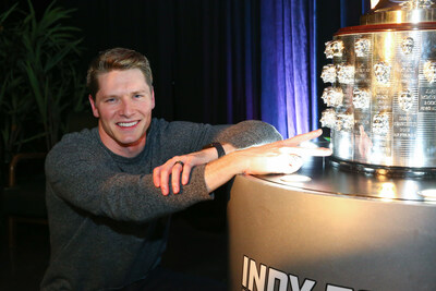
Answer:
[{"label": "smiling face of the man leaning beside the trophy", "polygon": [[133,157],[145,145],[155,96],[138,69],[98,76],[96,100],[89,96],[102,143],[113,153]]}]

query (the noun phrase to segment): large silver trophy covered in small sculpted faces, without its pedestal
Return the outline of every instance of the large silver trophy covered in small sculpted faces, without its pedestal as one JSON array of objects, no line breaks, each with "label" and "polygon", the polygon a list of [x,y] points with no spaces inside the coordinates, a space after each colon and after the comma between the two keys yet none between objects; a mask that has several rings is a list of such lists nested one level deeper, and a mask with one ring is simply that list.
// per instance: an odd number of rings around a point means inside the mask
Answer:
[{"label": "large silver trophy covered in small sculpted faces, without its pedestal", "polygon": [[382,0],[326,43],[320,122],[337,165],[436,173],[435,2]]}]

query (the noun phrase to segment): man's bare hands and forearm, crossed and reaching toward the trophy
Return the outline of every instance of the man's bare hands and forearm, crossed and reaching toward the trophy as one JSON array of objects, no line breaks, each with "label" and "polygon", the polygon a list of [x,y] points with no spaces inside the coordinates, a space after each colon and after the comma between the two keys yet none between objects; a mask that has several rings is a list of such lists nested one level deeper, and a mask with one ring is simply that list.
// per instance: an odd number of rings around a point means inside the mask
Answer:
[{"label": "man's bare hands and forearm, crossed and reaching toward the trophy", "polygon": [[[182,174],[182,184],[187,183],[187,178],[192,167],[207,163],[205,168],[205,182],[207,190],[213,192],[220,185],[228,182],[235,174],[266,174],[266,173],[292,173],[302,166],[302,156],[329,156],[331,150],[328,148],[302,148],[299,145],[302,142],[318,137],[322,130],[301,134],[286,141],[278,141],[262,146],[253,146],[245,149],[237,149],[230,144],[225,145],[226,156],[219,159],[211,159],[204,162],[195,158],[205,154],[203,150],[186,156],[174,157],[154,171],[154,183],[160,186],[162,194],[169,193],[169,175],[171,174],[171,184],[173,193],[179,192],[180,174]],[[209,149],[207,149],[209,150]],[[213,149],[215,150],[215,149]],[[206,155],[206,154],[205,154]],[[213,155],[209,151],[208,155]],[[215,150],[216,155],[216,150]],[[177,163],[178,160],[189,160],[189,166]],[[183,161],[184,162],[184,161]],[[187,178],[186,178],[187,175]]]}]

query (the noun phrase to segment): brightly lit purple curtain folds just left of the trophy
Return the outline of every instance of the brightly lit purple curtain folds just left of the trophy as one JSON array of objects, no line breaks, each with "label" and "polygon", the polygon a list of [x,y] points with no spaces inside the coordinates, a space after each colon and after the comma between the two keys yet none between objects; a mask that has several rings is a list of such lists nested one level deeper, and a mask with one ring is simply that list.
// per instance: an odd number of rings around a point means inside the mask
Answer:
[{"label": "brightly lit purple curtain folds just left of the trophy", "polygon": [[313,128],[310,8],[306,0],[261,1],[262,119],[283,137]]}]

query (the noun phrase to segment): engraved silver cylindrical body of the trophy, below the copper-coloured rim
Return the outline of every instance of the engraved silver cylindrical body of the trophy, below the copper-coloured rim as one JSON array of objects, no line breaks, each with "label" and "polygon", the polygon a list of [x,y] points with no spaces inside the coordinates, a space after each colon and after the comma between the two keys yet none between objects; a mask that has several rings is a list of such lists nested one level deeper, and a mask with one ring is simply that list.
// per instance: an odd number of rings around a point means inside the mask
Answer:
[{"label": "engraved silver cylindrical body of the trophy, below the copper-coloured rim", "polygon": [[[414,47],[407,54],[403,41],[409,37]],[[377,167],[436,168],[436,27],[366,34],[373,47],[364,58],[347,49],[362,34],[335,38],[346,49],[330,68],[347,64],[355,71],[351,84],[336,83],[343,93],[341,108],[353,111],[353,122],[344,126],[335,110],[323,114],[323,124],[331,129],[334,156]]]}]

